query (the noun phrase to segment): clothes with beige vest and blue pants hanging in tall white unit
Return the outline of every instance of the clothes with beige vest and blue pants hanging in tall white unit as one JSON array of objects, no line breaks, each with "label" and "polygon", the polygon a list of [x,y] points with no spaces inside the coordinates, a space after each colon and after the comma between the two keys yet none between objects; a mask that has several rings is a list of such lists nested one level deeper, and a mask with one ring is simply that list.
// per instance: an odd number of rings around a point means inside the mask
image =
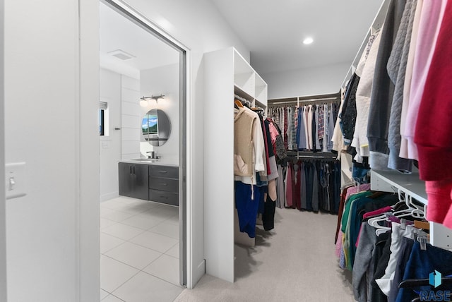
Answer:
[{"label": "clothes with beige vest and blue pants hanging in tall white unit", "polygon": [[234,115],[235,207],[240,231],[254,238],[258,212],[265,214],[266,225],[274,219],[278,167],[270,122],[246,107],[235,109]]}]

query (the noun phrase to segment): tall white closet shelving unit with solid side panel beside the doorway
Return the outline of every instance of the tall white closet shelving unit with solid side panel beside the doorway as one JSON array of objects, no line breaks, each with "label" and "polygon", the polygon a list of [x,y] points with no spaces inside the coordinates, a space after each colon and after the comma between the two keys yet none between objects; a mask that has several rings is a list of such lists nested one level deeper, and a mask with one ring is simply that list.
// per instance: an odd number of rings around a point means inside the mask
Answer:
[{"label": "tall white closet shelving unit with solid side panel beside the doorway", "polygon": [[234,222],[234,94],[266,109],[267,84],[233,47],[204,54],[203,60],[206,271],[234,282],[234,242],[254,245]]}]

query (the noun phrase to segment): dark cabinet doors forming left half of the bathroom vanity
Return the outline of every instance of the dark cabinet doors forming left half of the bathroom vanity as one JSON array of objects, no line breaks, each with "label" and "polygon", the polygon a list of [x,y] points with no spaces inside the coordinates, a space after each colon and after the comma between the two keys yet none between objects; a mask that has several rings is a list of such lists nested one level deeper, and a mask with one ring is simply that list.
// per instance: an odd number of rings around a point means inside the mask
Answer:
[{"label": "dark cabinet doors forming left half of the bathroom vanity", "polygon": [[119,195],[149,200],[148,165],[119,162]]}]

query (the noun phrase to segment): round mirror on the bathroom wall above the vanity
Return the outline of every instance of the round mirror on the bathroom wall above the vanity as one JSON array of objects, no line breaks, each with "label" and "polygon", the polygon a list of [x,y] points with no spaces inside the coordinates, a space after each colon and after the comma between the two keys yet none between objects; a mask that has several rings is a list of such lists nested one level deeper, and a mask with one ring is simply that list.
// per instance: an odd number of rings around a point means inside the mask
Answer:
[{"label": "round mirror on the bathroom wall above the vanity", "polygon": [[153,146],[164,145],[171,133],[171,122],[165,111],[150,109],[141,123],[145,140]]}]

